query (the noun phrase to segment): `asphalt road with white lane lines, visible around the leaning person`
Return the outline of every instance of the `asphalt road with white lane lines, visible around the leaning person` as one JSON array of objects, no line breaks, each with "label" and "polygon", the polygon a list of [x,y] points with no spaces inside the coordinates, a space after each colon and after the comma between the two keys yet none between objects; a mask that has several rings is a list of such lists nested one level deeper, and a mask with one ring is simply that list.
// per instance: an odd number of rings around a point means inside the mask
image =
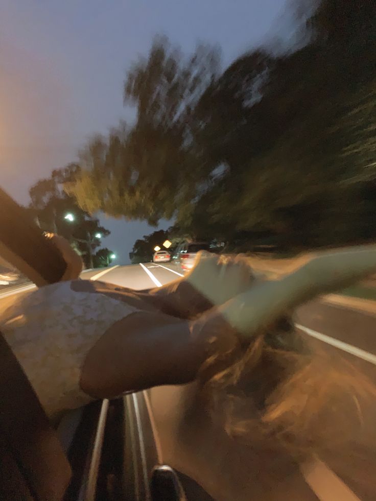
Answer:
[{"label": "asphalt road with white lane lines, visible around the leaning person", "polygon": [[[180,276],[182,274],[174,265],[153,263],[114,266],[82,274],[83,279],[103,280],[136,290],[159,287]],[[30,285],[9,288],[6,292],[3,289],[0,308],[30,290]],[[325,353],[331,360],[350,362],[376,384],[375,315],[315,300],[298,309],[295,322],[301,336],[314,350]],[[299,467],[275,450],[263,450],[230,439],[208,419],[205,405],[197,395],[195,384],[147,392],[161,460],[191,475],[215,499],[371,501],[376,498],[373,474],[376,468],[375,405],[367,409],[368,414],[363,415],[360,422],[354,422],[357,433],[351,449],[342,450],[340,455],[328,452],[321,459],[329,469],[321,471],[321,463],[316,462],[312,472],[311,464]],[[317,491],[315,478],[319,478],[319,485],[325,484],[328,471],[334,474],[335,483],[351,489],[353,497],[343,497],[343,490],[339,497]],[[311,481],[312,488],[309,487]],[[354,493],[358,497],[354,497]]]}]

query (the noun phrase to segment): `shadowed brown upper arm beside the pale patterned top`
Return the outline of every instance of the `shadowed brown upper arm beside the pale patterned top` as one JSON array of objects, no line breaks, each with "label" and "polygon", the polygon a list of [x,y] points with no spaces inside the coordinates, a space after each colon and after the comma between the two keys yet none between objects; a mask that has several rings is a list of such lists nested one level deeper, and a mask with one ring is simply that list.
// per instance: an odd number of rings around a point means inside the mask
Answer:
[{"label": "shadowed brown upper arm beside the pale patterned top", "polygon": [[190,383],[213,355],[227,366],[238,346],[236,333],[214,311],[194,321],[133,313],[112,325],[91,348],[82,367],[81,389],[94,398],[111,398]]}]

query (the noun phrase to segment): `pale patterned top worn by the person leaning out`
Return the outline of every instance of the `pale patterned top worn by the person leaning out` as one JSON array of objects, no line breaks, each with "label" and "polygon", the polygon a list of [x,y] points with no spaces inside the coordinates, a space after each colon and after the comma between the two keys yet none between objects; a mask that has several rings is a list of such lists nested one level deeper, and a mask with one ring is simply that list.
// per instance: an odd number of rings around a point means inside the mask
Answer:
[{"label": "pale patterned top worn by the person leaning out", "polygon": [[137,311],[124,297],[79,292],[74,283],[42,287],[0,315],[0,329],[52,418],[92,400],[79,386],[86,354],[112,324]]}]

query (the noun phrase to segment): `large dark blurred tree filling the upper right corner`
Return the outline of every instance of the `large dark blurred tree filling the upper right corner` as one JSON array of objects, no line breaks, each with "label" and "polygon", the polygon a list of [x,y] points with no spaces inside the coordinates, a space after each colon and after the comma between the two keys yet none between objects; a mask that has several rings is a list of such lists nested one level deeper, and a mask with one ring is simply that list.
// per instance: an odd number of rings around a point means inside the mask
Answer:
[{"label": "large dark blurred tree filling the upper right corner", "polygon": [[245,55],[204,94],[201,142],[227,165],[205,194],[209,223],[295,248],[376,237],[376,3],[345,4],[321,2],[310,43]]}]

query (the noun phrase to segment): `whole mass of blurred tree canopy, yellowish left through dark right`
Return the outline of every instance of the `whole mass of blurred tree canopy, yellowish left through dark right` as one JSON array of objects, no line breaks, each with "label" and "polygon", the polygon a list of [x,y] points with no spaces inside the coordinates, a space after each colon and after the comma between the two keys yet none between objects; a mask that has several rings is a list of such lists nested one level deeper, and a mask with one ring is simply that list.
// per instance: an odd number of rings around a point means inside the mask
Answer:
[{"label": "whole mass of blurred tree canopy, yellowish left through dark right", "polygon": [[88,212],[175,218],[225,241],[373,240],[376,3],[295,8],[306,43],[259,47],[222,73],[213,47],[184,56],[157,38],[124,83],[135,123],[85,147],[68,193]]}]

